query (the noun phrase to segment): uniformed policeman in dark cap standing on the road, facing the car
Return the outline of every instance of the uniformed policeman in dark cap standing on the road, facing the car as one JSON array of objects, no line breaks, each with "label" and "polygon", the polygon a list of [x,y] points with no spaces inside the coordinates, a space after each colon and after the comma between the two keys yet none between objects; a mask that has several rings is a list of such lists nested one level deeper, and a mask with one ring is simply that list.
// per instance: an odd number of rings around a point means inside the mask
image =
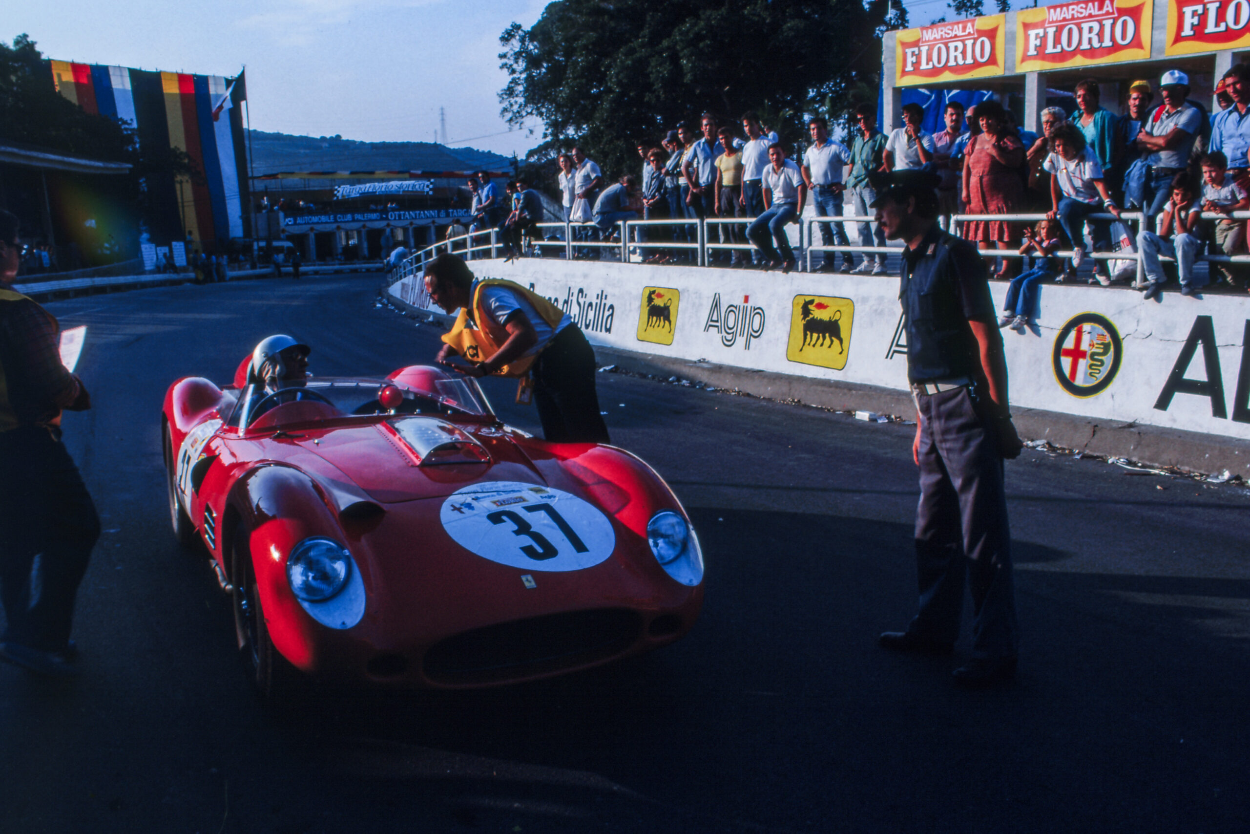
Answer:
[{"label": "uniformed policeman in dark cap standing on the road, facing the car", "polygon": [[935,223],[936,175],[896,171],[884,185],[872,203],[876,221],[888,239],[905,244],[899,299],[916,403],[920,613],[906,631],[886,631],[880,643],[950,654],[966,576],[972,658],[955,680],[990,686],[1015,675],[1018,644],[1002,459],[1016,458],[1021,443],[1008,409],[1002,340],[976,246]]}]

